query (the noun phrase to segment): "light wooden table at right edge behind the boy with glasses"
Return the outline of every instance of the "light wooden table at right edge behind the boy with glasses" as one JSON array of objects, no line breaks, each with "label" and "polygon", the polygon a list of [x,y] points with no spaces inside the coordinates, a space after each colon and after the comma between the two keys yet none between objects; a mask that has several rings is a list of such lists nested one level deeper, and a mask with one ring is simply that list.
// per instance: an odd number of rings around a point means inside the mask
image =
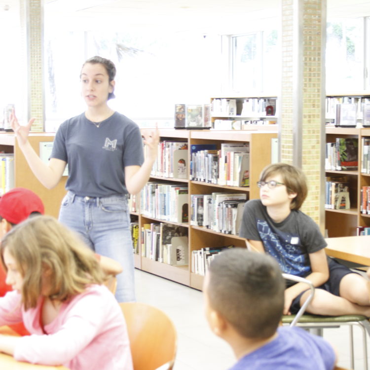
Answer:
[{"label": "light wooden table at right edge behind the boy with glasses", "polygon": [[370,266],[370,235],[326,238],[328,256]]}]

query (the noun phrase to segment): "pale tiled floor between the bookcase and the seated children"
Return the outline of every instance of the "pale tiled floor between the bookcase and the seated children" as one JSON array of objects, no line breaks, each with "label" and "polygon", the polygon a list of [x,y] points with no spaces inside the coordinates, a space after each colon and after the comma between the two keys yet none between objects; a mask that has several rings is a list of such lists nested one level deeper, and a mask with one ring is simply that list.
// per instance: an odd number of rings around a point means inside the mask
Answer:
[{"label": "pale tiled floor between the bookcase and the seated children", "polygon": [[[135,270],[137,300],[152,304],[173,320],[178,333],[174,370],[227,370],[235,362],[231,348],[208,328],[202,293],[181,284]],[[338,365],[349,368],[348,328],[325,329],[336,348]],[[365,370],[360,330],[354,329],[355,369]]]}]

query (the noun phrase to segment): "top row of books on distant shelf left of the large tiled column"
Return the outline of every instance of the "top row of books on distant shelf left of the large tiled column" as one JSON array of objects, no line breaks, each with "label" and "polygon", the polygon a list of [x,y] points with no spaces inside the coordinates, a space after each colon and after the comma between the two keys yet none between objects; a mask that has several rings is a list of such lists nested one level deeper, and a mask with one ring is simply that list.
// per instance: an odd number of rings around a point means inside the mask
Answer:
[{"label": "top row of books on distant shelf left of the large tiled column", "polygon": [[213,99],[213,116],[267,116],[276,112],[276,98]]}]

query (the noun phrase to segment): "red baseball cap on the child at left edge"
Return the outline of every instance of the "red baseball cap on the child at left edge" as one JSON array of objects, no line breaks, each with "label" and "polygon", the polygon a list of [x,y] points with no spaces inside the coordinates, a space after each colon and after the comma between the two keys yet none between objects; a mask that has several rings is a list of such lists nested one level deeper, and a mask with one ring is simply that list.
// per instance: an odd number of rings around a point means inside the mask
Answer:
[{"label": "red baseball cap on the child at left edge", "polygon": [[44,214],[44,205],[37,194],[24,187],[15,187],[0,198],[0,216],[18,224],[29,218],[32,212]]}]

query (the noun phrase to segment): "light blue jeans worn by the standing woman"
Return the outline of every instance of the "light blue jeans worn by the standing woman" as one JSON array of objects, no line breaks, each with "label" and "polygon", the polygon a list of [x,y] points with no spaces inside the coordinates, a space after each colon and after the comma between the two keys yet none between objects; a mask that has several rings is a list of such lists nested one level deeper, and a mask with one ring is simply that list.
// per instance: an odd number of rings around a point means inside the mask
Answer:
[{"label": "light blue jeans worn by the standing woman", "polygon": [[115,259],[122,265],[123,272],[117,275],[115,297],[118,302],[135,301],[134,253],[127,197],[92,198],[68,191],[62,201],[59,221],[80,234],[95,253]]}]

